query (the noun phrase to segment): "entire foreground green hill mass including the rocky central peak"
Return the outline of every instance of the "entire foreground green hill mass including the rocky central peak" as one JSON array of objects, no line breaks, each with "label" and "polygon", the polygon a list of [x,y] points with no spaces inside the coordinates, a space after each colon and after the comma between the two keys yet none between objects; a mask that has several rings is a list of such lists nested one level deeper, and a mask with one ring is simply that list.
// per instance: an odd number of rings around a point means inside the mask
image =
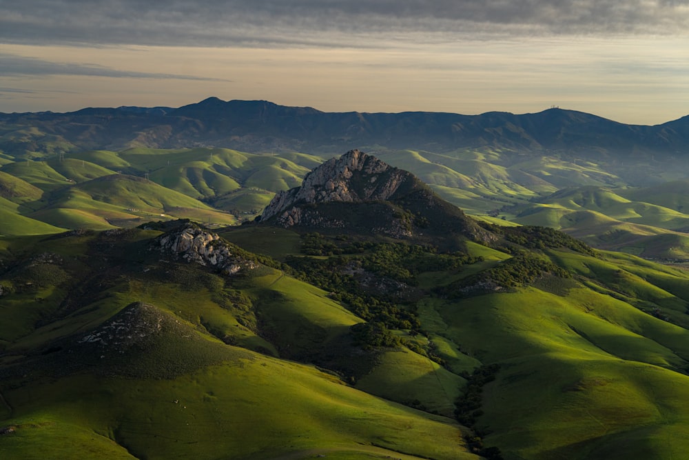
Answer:
[{"label": "entire foreground green hill mass including the rocky central peak", "polygon": [[[146,186],[149,205],[161,187],[111,174],[65,190],[98,181]],[[586,191],[551,200],[633,203]],[[687,272],[474,221],[358,151],[260,221],[156,220],[0,239],[3,458],[689,449]]]}]

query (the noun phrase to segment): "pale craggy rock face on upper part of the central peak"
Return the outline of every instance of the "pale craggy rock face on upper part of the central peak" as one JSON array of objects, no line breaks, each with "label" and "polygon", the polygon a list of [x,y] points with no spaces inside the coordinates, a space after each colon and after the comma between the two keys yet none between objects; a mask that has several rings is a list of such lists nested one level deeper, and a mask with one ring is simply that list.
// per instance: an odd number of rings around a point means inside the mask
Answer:
[{"label": "pale craggy rock face on upper part of the central peak", "polygon": [[387,201],[402,184],[415,181],[407,171],[393,168],[376,157],[350,150],[309,172],[300,187],[278,193],[263,210],[261,220],[278,216],[283,226],[300,222],[297,205],[341,201]]}]

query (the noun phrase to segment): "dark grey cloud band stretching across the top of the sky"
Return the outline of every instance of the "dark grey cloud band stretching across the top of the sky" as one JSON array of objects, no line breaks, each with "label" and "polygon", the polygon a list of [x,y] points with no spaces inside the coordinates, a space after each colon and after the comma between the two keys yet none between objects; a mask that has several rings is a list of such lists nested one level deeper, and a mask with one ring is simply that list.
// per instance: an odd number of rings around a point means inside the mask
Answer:
[{"label": "dark grey cloud band stretching across the top of the sky", "polygon": [[364,46],[411,35],[686,36],[688,23],[689,0],[0,0],[0,41],[31,44]]}]

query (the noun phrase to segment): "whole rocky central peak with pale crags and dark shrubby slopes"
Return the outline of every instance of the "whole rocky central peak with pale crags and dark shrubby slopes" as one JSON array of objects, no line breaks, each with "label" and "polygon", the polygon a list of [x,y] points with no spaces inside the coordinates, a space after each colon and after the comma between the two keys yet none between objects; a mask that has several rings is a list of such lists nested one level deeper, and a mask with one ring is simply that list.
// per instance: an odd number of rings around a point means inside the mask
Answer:
[{"label": "whole rocky central peak with pale crags and dark shrubby slopes", "polygon": [[420,242],[494,239],[411,172],[350,150],[307,174],[300,187],[278,193],[260,222],[304,230],[362,232]]}]

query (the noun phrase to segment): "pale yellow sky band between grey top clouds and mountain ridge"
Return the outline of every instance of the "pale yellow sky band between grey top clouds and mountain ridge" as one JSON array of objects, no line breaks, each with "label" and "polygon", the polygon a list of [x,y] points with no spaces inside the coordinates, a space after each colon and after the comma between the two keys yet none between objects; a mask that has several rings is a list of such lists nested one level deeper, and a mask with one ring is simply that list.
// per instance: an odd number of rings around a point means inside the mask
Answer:
[{"label": "pale yellow sky band between grey top clouds and mountain ridge", "polygon": [[178,107],[216,96],[326,112],[526,113],[559,106],[644,125],[689,114],[686,37],[432,44],[391,37],[371,48],[0,44],[0,56],[29,68],[0,68],[0,112]]}]

